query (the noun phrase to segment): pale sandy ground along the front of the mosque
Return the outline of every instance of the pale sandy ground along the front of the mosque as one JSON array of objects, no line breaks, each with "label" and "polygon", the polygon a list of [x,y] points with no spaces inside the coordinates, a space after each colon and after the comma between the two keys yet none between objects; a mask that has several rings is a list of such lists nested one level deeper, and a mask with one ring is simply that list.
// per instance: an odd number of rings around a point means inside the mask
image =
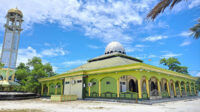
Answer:
[{"label": "pale sandy ground along the front of the mosque", "polygon": [[36,109],[38,112],[200,112],[200,99],[153,105],[80,100],[51,102],[48,99],[0,101],[0,112],[14,112],[6,111],[8,109],[17,112],[21,109]]}]

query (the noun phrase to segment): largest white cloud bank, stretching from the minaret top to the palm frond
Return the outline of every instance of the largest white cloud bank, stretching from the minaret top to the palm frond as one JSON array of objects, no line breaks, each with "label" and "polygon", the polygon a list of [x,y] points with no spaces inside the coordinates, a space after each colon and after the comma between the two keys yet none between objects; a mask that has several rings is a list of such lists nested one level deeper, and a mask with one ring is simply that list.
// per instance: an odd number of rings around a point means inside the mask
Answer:
[{"label": "largest white cloud bank, stretching from the minaret top to the palm frond", "polygon": [[0,24],[6,12],[16,6],[24,14],[23,29],[34,23],[58,23],[63,28],[80,26],[85,35],[104,42],[131,42],[127,35],[130,25],[141,25],[147,11],[156,0],[95,1],[95,0],[3,0]]}]

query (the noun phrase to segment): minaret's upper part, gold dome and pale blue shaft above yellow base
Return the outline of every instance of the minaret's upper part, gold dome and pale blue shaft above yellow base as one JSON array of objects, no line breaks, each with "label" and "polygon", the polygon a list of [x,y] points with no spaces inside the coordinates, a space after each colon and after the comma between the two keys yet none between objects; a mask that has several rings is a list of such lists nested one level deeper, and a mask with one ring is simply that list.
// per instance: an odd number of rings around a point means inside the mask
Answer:
[{"label": "minaret's upper part, gold dome and pale blue shaft above yellow base", "polygon": [[5,68],[15,69],[19,46],[20,32],[23,14],[17,8],[8,10],[7,22],[4,25],[5,35],[1,53],[1,63]]}]

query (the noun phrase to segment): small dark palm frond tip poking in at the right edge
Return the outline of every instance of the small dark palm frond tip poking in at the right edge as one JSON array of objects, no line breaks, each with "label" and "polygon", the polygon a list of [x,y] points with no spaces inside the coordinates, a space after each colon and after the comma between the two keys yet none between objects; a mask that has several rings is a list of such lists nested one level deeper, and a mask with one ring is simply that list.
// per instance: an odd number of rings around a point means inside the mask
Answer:
[{"label": "small dark palm frond tip poking in at the right edge", "polygon": [[200,19],[198,20],[198,23],[194,25],[194,27],[190,28],[190,31],[192,31],[192,35],[194,35],[195,39],[199,39],[200,37]]}]

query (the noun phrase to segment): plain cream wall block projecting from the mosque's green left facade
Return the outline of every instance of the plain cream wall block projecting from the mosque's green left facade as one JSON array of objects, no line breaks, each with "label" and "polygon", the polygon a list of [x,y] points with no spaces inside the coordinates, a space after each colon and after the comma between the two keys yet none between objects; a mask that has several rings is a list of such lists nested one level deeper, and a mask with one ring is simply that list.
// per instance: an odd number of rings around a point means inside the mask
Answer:
[{"label": "plain cream wall block projecting from the mosque's green left facade", "polygon": [[77,95],[79,99],[82,99],[82,88],[82,76],[65,78],[64,95]]}]

